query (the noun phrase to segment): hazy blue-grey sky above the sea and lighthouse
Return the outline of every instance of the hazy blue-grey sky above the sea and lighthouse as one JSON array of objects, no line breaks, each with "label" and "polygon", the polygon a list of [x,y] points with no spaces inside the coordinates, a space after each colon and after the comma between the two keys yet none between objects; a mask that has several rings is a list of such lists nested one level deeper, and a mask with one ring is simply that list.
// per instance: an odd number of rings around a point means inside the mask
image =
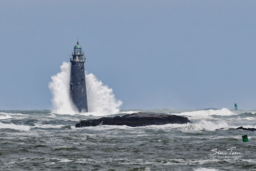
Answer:
[{"label": "hazy blue-grey sky above the sea and lighthouse", "polygon": [[0,109],[50,109],[78,37],[121,109],[256,109],[256,1],[0,2]]}]

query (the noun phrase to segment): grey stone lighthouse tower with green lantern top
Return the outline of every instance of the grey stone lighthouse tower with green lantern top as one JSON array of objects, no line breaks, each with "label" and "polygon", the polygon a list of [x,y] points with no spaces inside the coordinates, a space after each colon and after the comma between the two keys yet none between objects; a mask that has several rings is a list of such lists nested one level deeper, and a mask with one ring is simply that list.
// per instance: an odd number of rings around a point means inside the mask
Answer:
[{"label": "grey stone lighthouse tower with green lantern top", "polygon": [[74,51],[71,52],[70,62],[71,72],[69,90],[71,99],[79,112],[88,112],[84,75],[85,56],[81,46],[78,44],[78,40],[74,46]]}]

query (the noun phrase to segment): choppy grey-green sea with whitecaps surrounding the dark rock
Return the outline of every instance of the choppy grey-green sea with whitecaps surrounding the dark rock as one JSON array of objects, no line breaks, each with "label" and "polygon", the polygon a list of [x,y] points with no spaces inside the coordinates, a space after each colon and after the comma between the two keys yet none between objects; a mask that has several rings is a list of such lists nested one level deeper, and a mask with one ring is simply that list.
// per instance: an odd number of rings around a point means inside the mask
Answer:
[{"label": "choppy grey-green sea with whitecaps surrounding the dark rock", "polygon": [[192,123],[75,128],[102,116],[2,110],[0,170],[256,170],[256,132],[235,129],[256,128],[256,110],[133,109],[110,116],[137,111],[177,114]]}]

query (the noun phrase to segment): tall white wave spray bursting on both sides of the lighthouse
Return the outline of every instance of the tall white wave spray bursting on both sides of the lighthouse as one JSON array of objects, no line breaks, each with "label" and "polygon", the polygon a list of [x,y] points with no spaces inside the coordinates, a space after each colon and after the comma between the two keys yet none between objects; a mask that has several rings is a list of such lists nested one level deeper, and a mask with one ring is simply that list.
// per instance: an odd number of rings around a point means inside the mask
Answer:
[{"label": "tall white wave spray bursting on both sides of the lighthouse", "polygon": [[[60,72],[51,76],[49,89],[52,93],[53,113],[76,114],[78,113],[69,96],[70,63],[63,62]],[[111,88],[103,85],[93,74],[85,75],[88,113],[84,115],[102,116],[119,112],[121,100],[116,100]]]}]

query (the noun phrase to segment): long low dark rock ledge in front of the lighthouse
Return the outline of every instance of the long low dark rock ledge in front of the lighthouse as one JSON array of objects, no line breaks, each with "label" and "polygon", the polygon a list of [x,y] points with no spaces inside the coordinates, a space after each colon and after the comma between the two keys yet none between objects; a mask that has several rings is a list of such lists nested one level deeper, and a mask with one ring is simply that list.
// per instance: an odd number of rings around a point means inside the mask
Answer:
[{"label": "long low dark rock ledge in front of the lighthouse", "polygon": [[147,126],[163,125],[167,123],[191,123],[187,117],[169,115],[163,113],[132,113],[123,116],[102,117],[99,119],[82,120],[75,124],[75,127],[99,126],[99,125],[127,125],[127,126]]}]

